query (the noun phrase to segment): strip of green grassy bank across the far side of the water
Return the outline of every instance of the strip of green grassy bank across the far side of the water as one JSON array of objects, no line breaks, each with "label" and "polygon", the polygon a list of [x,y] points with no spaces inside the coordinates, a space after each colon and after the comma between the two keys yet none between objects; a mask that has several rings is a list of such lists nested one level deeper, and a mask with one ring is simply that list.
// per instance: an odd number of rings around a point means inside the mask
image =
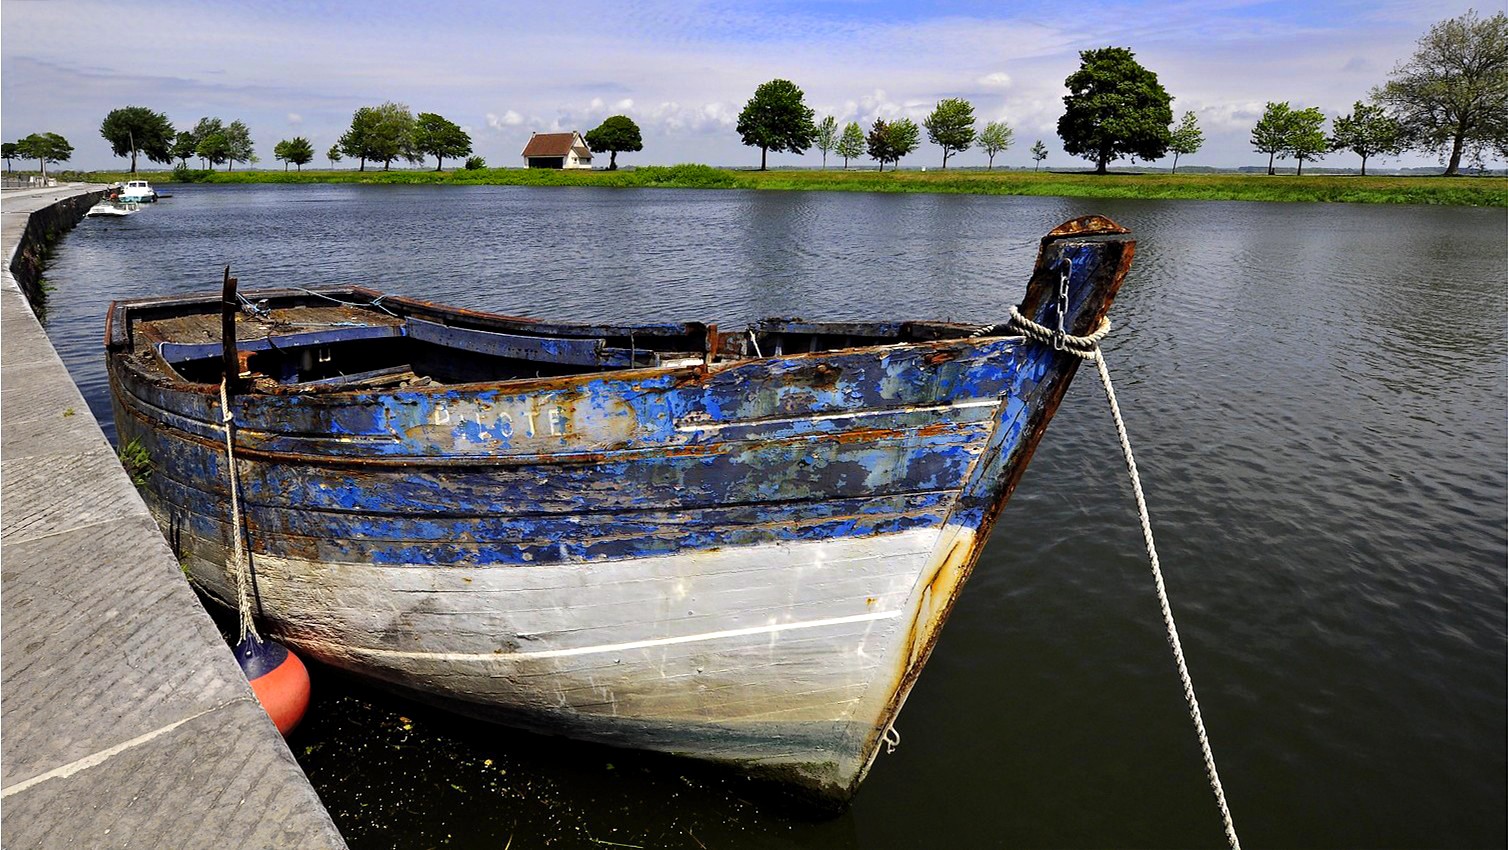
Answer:
[{"label": "strip of green grassy bank across the far side of the water", "polygon": [[[92,181],[130,175],[93,172]],[[172,182],[170,173],[143,175]],[[1508,206],[1508,178],[1341,176],[1341,175],[1089,175],[1057,172],[876,172],[774,170],[746,172],[707,166],[648,166],[618,172],[547,169],[357,172],[198,172],[196,182],[360,182],[455,185],[596,185],[618,188],[754,188],[796,191],[921,191],[953,194],[1047,194],[1060,197],[1148,197],[1178,200],[1291,200],[1329,203],[1434,203]]]}]

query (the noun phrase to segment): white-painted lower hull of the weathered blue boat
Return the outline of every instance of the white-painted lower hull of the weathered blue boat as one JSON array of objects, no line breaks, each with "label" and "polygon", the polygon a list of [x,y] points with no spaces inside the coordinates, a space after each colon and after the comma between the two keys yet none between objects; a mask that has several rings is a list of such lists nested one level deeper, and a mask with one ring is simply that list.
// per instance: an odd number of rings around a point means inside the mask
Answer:
[{"label": "white-painted lower hull of the weathered blue boat", "polygon": [[[321,662],[495,720],[844,797],[941,625],[939,568],[971,541],[944,526],[452,570],[261,555],[256,582],[268,619],[297,624],[284,638]],[[234,598],[220,565],[192,570]]]}]

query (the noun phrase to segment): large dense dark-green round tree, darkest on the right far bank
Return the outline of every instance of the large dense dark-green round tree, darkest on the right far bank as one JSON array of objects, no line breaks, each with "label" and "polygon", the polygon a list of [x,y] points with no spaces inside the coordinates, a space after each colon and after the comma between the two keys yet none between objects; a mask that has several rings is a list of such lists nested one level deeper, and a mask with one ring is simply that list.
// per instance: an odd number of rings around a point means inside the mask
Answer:
[{"label": "large dense dark-green round tree, darkest on the right far bank", "polygon": [[1095,173],[1120,157],[1160,160],[1167,152],[1173,98],[1157,74],[1123,47],[1080,51],[1080,66],[1063,81],[1063,149],[1095,163]]}]

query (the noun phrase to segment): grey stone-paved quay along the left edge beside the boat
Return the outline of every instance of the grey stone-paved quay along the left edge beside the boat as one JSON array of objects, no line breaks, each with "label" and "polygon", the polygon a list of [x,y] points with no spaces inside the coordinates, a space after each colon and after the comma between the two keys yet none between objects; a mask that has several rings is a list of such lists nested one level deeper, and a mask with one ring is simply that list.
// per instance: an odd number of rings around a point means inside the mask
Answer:
[{"label": "grey stone-paved quay along the left edge beside the boat", "polygon": [[103,188],[0,194],[0,845],[345,847],[12,274]]}]

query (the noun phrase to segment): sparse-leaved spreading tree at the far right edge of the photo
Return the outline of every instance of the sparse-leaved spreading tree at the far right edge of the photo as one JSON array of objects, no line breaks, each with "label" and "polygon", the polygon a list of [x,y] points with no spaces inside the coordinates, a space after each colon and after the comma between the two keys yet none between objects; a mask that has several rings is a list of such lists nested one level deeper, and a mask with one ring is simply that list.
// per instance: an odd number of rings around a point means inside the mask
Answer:
[{"label": "sparse-leaved spreading tree at the far right edge of the photo", "polygon": [[1374,89],[1372,98],[1398,119],[1405,146],[1446,158],[1446,175],[1460,172],[1464,154],[1500,151],[1508,15],[1482,20],[1469,11],[1430,27],[1413,57],[1393,68],[1392,80]]}]

